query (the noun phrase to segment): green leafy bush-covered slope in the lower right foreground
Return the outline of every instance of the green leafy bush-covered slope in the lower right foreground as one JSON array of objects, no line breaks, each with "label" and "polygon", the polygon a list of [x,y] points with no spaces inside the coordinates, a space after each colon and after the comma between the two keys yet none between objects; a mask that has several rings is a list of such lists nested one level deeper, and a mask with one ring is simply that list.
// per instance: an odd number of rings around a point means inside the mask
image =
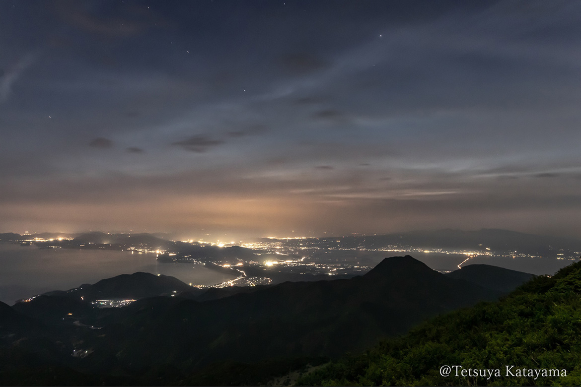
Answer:
[{"label": "green leafy bush-covered slope in the lower right foreground", "polygon": [[[499,302],[437,317],[364,355],[344,357],[299,385],[580,385],[580,337],[581,263],[574,263]],[[461,366],[464,375],[453,368],[444,377],[442,366]]]}]

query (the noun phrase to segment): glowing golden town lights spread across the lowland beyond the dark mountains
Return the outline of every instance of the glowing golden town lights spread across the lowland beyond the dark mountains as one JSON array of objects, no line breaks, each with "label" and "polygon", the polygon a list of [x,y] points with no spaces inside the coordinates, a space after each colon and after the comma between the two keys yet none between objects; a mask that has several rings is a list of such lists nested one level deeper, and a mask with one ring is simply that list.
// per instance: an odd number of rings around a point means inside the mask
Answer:
[{"label": "glowing golden town lights spread across the lowland beyond the dark mountains", "polygon": [[[221,283],[202,285],[199,289],[254,287],[284,281],[312,281],[349,278],[368,272],[382,258],[393,255],[423,256],[426,259],[450,257],[453,265],[436,268],[447,273],[485,259],[521,259],[575,261],[581,252],[548,246],[544,252],[493,248],[486,243],[473,248],[430,247],[428,243],[399,242],[390,236],[346,237],[264,237],[250,241],[162,240],[148,234],[98,233],[84,238],[71,234],[56,236],[25,235],[19,243],[39,248],[78,248],[128,251],[131,254],[155,254],[160,264],[188,263],[202,265],[231,277]],[[395,240],[395,241],[394,241]],[[432,257],[432,258],[431,258]],[[421,258],[418,258],[421,259]],[[505,261],[506,262],[506,261]],[[30,301],[25,299],[23,301]],[[101,300],[99,308],[129,305],[131,300]]]}]

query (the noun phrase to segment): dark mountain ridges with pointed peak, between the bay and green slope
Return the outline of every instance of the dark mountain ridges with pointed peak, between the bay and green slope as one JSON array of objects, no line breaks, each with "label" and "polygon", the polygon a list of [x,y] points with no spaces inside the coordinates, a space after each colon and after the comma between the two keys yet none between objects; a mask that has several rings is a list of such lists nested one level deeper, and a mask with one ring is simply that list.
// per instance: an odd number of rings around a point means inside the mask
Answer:
[{"label": "dark mountain ridges with pointed peak, between the bay and green slope", "polygon": [[[0,303],[0,382],[36,375],[60,384],[66,374],[96,384],[191,384],[217,362],[336,357],[427,317],[493,301],[530,278],[474,266],[444,275],[398,256],[352,279],[207,292],[135,273],[12,308]],[[98,299],[137,301],[98,308]]]}]

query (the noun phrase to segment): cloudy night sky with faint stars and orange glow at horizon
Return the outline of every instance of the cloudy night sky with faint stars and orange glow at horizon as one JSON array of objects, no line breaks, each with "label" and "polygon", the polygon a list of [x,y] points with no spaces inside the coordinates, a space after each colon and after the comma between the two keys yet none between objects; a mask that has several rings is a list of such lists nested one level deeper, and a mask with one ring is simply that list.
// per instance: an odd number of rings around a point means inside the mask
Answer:
[{"label": "cloudy night sky with faint stars and orange glow at horizon", "polygon": [[579,237],[580,70],[575,1],[1,0],[0,232]]}]

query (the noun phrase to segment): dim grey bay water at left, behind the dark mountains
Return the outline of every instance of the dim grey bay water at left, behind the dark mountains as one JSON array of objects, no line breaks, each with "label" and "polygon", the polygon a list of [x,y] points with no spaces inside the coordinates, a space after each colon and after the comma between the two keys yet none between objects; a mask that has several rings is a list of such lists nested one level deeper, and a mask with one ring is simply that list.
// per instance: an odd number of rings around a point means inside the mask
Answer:
[{"label": "dim grey bay water at left, behind the dark mountains", "polygon": [[0,242],[0,301],[13,305],[51,290],[146,272],[165,274],[193,285],[212,285],[234,278],[192,263],[161,263],[156,254],[130,251],[38,248]]}]

